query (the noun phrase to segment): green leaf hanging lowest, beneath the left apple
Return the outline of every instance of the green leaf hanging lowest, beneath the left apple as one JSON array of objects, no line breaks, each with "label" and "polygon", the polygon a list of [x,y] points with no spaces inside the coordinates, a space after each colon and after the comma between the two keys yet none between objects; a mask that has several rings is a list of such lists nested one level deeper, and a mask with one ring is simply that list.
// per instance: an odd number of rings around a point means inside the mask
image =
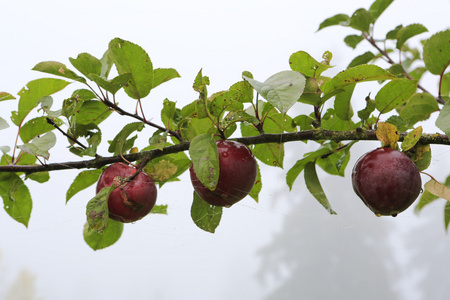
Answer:
[{"label": "green leaf hanging lowest, beneath the left apple", "polygon": [[105,228],[103,234],[98,233],[89,227],[86,222],[83,230],[83,237],[86,244],[94,251],[104,249],[117,242],[123,232],[123,223],[109,220],[108,226]]}]

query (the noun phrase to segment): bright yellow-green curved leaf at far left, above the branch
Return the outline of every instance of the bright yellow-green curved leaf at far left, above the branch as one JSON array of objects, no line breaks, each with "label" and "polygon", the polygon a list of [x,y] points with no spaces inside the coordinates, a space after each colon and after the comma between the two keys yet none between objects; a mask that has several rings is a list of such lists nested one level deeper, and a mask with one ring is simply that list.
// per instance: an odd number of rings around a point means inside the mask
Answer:
[{"label": "bright yellow-green curved leaf at far left, above the branch", "polygon": [[40,99],[44,96],[49,96],[62,89],[64,89],[69,82],[62,79],[41,78],[30,81],[18,93],[20,96],[19,110],[13,112],[11,117],[13,123],[19,126],[30,111],[40,103]]}]

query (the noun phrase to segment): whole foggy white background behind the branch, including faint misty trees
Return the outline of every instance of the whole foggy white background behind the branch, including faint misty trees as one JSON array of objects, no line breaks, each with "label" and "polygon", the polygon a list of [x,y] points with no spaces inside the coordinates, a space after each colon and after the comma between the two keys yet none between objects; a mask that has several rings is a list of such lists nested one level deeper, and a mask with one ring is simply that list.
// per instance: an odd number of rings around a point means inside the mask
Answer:
[{"label": "whole foggy white background behind the branch, including faint misty trees", "polygon": [[[316,30],[325,18],[351,15],[371,3],[3,1],[0,90],[16,94],[28,81],[45,77],[31,71],[41,61],[70,66],[68,58],[81,52],[101,57],[108,42],[120,37],[142,46],[154,67],[175,68],[182,76],[145,99],[146,114],[157,122],[165,98],[177,101],[178,107],[196,98],[192,82],[200,68],[210,77],[211,93],[241,80],[244,70],[263,81],[289,69],[289,56],[299,50],[317,60],[329,50],[335,67],[328,75],[343,70],[368,47],[352,50],[343,43],[347,34],[356,33],[351,29]],[[383,37],[399,24],[415,22],[431,33],[444,30],[450,25],[449,12],[446,0],[397,0],[378,20],[375,35]],[[435,78],[425,79],[427,88],[436,92]],[[73,83],[67,92],[56,94],[55,105],[81,87]],[[376,88],[358,87],[355,108]],[[133,107],[132,100],[121,96],[121,104]],[[0,116],[9,120],[16,105],[2,102]],[[294,110],[310,112],[307,106]],[[107,120],[103,141],[130,121]],[[424,127],[436,130],[433,122]],[[0,144],[12,147],[15,130],[1,131]],[[151,130],[141,134],[141,148],[150,135]],[[395,219],[376,218],[352,191],[351,166],[377,146],[354,146],[345,178],[319,171],[337,216],[315,202],[302,176],[288,192],[286,171],[317,148],[297,142],[286,146],[285,170],[262,166],[260,203],[247,197],[226,209],[215,234],[190,220],[192,187],[185,174],[181,182],[159,190],[159,204],[169,205],[167,216],[150,215],[126,225],[117,244],[96,252],[82,237],[85,206],[94,187],[66,205],[65,193],[78,172],[54,172],[50,182],[29,183],[34,207],[28,229],[0,211],[0,299],[448,299],[450,243],[443,228],[444,202],[433,203],[420,216],[410,208]],[[106,146],[100,151],[107,155]],[[446,147],[433,146],[428,172],[439,180],[448,175],[449,153]],[[51,161],[74,159],[65,147],[51,152]]]}]

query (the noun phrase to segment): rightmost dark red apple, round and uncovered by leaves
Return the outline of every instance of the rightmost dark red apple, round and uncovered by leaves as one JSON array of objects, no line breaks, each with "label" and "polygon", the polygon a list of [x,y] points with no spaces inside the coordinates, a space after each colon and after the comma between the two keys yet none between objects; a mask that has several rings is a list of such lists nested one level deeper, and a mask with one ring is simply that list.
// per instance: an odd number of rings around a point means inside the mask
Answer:
[{"label": "rightmost dark red apple, round and uncovered by leaves", "polygon": [[377,216],[397,216],[416,200],[420,172],[403,152],[383,147],[364,154],[352,172],[355,193]]}]

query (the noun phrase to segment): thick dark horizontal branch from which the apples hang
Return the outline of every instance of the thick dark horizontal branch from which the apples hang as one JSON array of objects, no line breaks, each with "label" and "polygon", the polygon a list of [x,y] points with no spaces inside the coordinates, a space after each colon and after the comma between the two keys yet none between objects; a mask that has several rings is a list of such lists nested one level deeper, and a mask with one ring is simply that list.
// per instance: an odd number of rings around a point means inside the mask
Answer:
[{"label": "thick dark horizontal branch from which the apples hang", "polygon": [[[403,141],[406,137],[406,132],[400,133],[399,141]],[[263,143],[287,143],[294,141],[305,141],[305,140],[332,140],[335,142],[340,141],[375,141],[377,140],[375,130],[366,131],[332,131],[332,130],[307,130],[292,133],[281,133],[281,134],[261,134],[252,137],[241,137],[233,139],[238,142],[247,145],[263,144]],[[439,144],[439,145],[450,145],[450,140],[446,135],[442,134],[422,134],[419,143],[421,144]],[[150,161],[157,157],[177,153],[181,151],[186,151],[189,149],[190,142],[183,142],[178,145],[173,145],[165,147],[162,150],[154,149],[149,151],[143,151],[138,153],[132,153],[124,155],[128,161],[136,161],[145,159]],[[56,171],[56,170],[68,170],[68,169],[98,169],[105,165],[112,164],[115,162],[123,162],[121,156],[111,156],[111,157],[98,157],[91,160],[83,161],[72,161],[72,162],[62,162],[62,163],[51,163],[46,165],[6,165],[0,166],[0,173],[2,172],[24,172],[26,174],[45,172],[45,171]]]}]

